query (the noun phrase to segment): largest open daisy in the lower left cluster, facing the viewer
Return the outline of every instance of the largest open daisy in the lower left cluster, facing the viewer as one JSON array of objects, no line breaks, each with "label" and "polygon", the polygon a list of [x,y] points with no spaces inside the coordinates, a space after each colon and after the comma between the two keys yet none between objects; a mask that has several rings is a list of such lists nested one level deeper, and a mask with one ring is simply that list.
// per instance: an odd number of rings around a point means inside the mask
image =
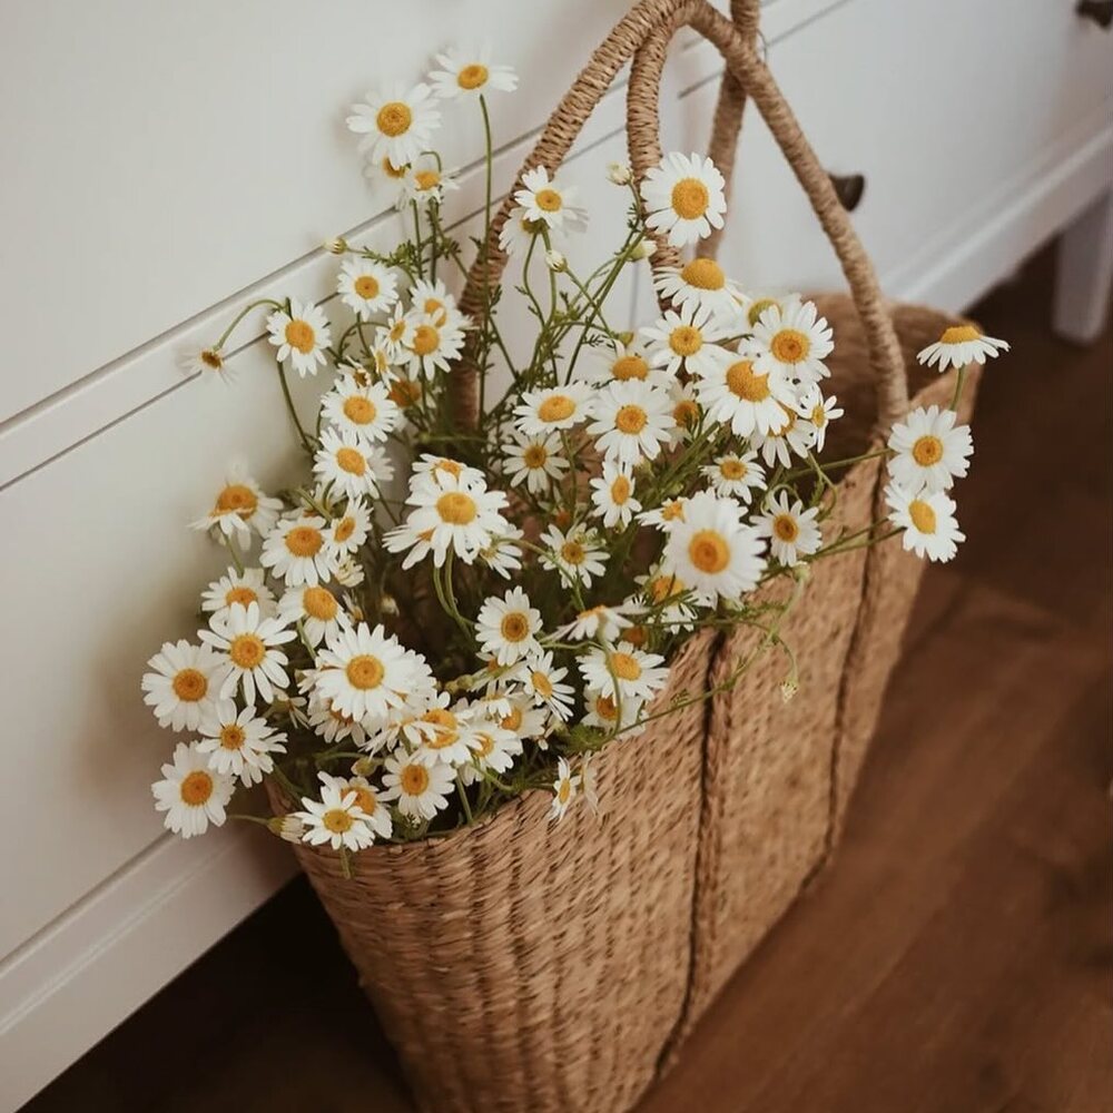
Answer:
[{"label": "largest open daisy in the lower left cluster, facing the viewer", "polygon": [[366,622],[341,627],[326,646],[317,653],[316,693],[368,730],[385,726],[430,677],[424,660],[387,636],[382,624],[374,630]]}]

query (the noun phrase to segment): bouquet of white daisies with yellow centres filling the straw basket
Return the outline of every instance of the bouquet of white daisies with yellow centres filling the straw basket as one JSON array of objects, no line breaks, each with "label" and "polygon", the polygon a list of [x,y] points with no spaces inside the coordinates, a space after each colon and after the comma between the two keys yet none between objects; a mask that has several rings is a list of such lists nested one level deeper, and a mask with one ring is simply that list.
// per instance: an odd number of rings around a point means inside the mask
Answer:
[{"label": "bouquet of white daisies with yellow centres filling the straw basket", "polygon": [[[814,561],[897,538],[945,561],[963,540],[948,492],[973,446],[954,404],[914,411],[866,456],[825,459],[843,410],[824,392],[835,337],[811,303],[747,292],[697,254],[654,270],[657,321],[619,319],[623,268],[658,243],[698,253],[722,225],[710,159],[670,154],[641,181],[610,167],[628,217],[597,232],[614,249],[590,272],[573,262],[588,220],[575,186],[526,173],[498,246],[532,345],[511,351],[493,284],[461,311],[454,284],[494,250],[489,97],[516,83],[485,56],[446,53],[430,83],[357,105],[348,127],[368,175],[396,184],[407,238],[386,253],[333,240],[328,315],[254,302],[190,358],[220,375],[235,326],[265,306],[305,470],[274,493],[233,471],[194,523],[228,568],[201,593],[197,637],[162,646],[142,679],[159,725],[184,736],[152,786],[184,837],[234,815],[343,856],[473,824],[531,789],[552,791],[553,819],[597,809],[591,755],[707,698],[657,699],[695,631],[748,623],[777,644]],[[432,146],[460,101],[487,137],[489,236],[466,247],[442,221],[455,183]],[[942,371],[1004,347],[962,326],[922,359]],[[477,427],[452,390],[465,368]],[[290,374],[322,378],[315,416],[297,412]],[[833,476],[878,454],[888,518],[825,530]],[[775,578],[797,590],[759,594]],[[234,808],[264,778],[287,812]]]}]

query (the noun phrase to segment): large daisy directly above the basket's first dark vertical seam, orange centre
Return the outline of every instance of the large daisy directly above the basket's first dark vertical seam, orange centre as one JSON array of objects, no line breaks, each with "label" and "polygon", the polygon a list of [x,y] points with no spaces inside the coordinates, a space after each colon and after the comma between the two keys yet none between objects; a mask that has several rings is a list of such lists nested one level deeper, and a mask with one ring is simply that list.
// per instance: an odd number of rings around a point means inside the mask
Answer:
[{"label": "large daisy directly above the basket's first dark vertical seam, orange centre", "polygon": [[742,524],[733,499],[709,491],[693,494],[684,505],[684,520],[669,532],[664,571],[682,583],[721,599],[738,600],[752,591],[766,562],[757,531]]}]

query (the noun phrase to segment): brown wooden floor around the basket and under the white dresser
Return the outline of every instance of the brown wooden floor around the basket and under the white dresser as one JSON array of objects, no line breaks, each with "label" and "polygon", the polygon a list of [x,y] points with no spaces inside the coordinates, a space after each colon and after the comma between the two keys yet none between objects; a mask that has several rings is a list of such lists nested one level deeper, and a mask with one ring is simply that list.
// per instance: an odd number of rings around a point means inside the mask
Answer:
[{"label": "brown wooden floor around the basket and under the white dresser", "polygon": [[[925,577],[836,864],[639,1113],[1113,1109],[1113,343],[1052,338],[1050,283],[1045,256],[976,311],[1014,355],[969,541]],[[26,1110],[410,1104],[299,883]]]}]

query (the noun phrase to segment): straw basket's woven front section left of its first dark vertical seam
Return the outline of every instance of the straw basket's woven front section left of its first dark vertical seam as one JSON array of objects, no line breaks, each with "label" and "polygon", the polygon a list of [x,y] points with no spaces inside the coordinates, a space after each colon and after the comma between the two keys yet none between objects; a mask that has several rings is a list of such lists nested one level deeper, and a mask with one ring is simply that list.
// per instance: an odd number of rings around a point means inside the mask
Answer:
[{"label": "straw basket's woven front section left of its first dark vertical seam", "polygon": [[[706,691],[705,632],[656,707]],[[706,700],[593,759],[600,823],[534,791],[485,823],[295,850],[429,1113],[614,1113],[650,1084],[688,991]],[[276,801],[277,802],[277,801]]]}]

